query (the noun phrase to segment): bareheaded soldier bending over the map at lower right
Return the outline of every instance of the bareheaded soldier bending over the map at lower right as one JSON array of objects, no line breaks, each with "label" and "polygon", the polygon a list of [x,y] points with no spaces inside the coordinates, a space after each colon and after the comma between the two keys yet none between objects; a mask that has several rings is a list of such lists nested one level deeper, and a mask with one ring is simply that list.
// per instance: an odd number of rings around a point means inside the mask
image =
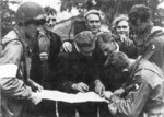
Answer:
[{"label": "bareheaded soldier bending over the map at lower right", "polygon": [[109,110],[118,117],[163,117],[164,116],[164,75],[153,62],[139,57],[129,59],[124,52],[113,52],[106,63],[122,72],[128,70],[130,78],[118,96],[110,91],[104,92],[109,100]]}]

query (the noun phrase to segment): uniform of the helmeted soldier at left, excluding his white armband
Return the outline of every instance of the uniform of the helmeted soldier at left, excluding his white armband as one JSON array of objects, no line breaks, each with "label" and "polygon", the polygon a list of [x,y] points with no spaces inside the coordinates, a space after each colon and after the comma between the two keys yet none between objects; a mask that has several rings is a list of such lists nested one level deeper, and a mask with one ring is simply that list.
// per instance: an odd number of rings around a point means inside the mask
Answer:
[{"label": "uniform of the helmeted soldier at left, excluding his white armband", "polygon": [[[0,63],[13,63],[17,66],[17,77],[10,77],[10,78],[1,78],[0,85],[1,85],[1,93],[2,97],[10,95],[9,100],[12,102],[8,102],[14,107],[11,106],[10,109],[15,114],[14,116],[19,115],[19,112],[22,109],[21,103],[23,100],[27,100],[32,95],[32,90],[30,86],[26,86],[23,82],[27,80],[27,71],[26,71],[26,60],[25,56],[27,52],[25,49],[25,45],[21,39],[21,35],[19,31],[14,28],[13,31],[9,32],[2,38],[2,46],[3,50],[1,54]],[[20,103],[20,104],[19,104]],[[2,112],[3,113],[3,112]],[[3,113],[4,114],[4,113]]]}]

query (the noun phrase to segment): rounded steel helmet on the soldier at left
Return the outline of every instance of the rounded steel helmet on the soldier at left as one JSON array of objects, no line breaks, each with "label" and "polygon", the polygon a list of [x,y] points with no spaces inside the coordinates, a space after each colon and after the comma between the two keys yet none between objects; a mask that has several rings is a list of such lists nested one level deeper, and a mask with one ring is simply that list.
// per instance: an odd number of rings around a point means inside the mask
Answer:
[{"label": "rounded steel helmet on the soldier at left", "polygon": [[35,2],[24,2],[16,11],[16,22],[26,23],[30,21],[40,21],[45,20],[44,9]]}]

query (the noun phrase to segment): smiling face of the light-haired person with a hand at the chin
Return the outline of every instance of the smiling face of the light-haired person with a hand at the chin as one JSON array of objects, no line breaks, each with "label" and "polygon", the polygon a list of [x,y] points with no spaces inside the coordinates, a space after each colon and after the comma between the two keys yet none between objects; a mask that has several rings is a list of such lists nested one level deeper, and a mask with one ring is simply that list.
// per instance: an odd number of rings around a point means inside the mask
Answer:
[{"label": "smiling face of the light-haired person with a hand at the chin", "polygon": [[129,36],[129,23],[126,20],[118,22],[116,26],[116,33],[118,36]]}]

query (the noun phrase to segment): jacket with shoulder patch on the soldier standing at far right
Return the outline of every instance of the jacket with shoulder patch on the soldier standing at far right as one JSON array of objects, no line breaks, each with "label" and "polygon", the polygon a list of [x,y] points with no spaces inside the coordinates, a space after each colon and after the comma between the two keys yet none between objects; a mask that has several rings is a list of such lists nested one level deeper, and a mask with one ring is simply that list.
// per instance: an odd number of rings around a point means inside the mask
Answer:
[{"label": "jacket with shoulder patch on the soldier standing at far right", "polygon": [[164,28],[154,26],[142,47],[142,57],[156,63],[164,71]]}]

